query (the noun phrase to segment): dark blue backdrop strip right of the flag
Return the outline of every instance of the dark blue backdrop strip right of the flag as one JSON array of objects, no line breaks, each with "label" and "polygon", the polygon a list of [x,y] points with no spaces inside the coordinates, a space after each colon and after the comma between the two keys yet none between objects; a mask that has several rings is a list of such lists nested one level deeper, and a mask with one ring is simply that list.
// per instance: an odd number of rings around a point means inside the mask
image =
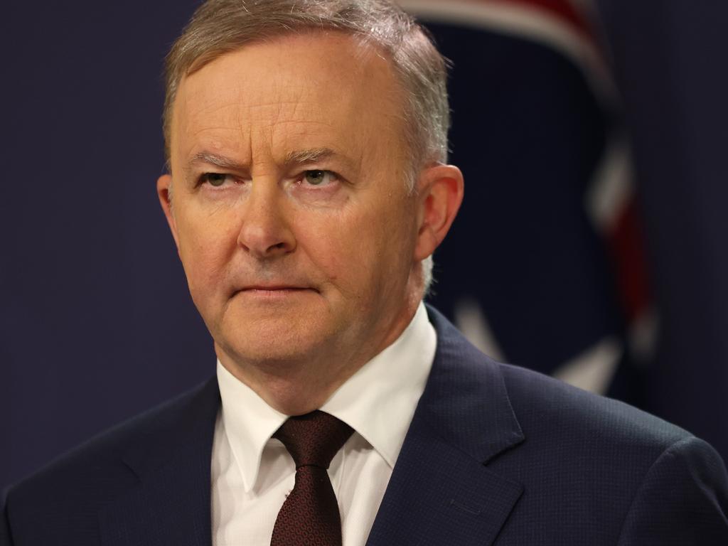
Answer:
[{"label": "dark blue backdrop strip right of the flag", "polygon": [[728,459],[728,4],[599,5],[633,135],[660,312],[641,405]]}]

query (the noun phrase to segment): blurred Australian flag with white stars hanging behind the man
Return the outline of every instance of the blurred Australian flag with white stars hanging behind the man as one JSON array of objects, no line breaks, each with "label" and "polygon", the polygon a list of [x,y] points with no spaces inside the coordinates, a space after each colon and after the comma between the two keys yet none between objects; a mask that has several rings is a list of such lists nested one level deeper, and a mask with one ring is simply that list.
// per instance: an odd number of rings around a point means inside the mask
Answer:
[{"label": "blurred Australian flag with white stars hanging behind the man", "polygon": [[410,0],[451,60],[465,200],[430,300],[488,354],[638,402],[652,355],[628,138],[593,13]]}]

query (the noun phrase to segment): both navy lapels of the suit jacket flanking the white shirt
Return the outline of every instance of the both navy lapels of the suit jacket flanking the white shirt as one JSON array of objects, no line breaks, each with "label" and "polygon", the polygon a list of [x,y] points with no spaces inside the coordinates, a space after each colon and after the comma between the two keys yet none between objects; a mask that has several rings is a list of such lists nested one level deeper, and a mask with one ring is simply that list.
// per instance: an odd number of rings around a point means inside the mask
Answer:
[{"label": "both navy lapels of the suit jacket flanking the white shirt", "polygon": [[[427,311],[438,333],[435,363],[368,546],[489,545],[523,492],[487,466],[523,441],[497,365]],[[141,437],[123,456],[138,485],[100,511],[104,546],[210,545],[219,405],[213,378],[138,427]]]}]

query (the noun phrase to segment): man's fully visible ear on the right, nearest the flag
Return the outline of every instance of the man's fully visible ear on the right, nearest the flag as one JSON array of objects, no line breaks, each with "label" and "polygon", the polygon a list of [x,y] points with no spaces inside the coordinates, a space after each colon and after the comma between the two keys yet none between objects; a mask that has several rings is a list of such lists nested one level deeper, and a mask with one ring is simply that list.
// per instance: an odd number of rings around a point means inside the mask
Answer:
[{"label": "man's fully visible ear on the right, nearest the flag", "polygon": [[430,256],[448,234],[462,203],[462,173],[454,165],[433,165],[420,173],[417,220],[419,232],[414,259]]}]

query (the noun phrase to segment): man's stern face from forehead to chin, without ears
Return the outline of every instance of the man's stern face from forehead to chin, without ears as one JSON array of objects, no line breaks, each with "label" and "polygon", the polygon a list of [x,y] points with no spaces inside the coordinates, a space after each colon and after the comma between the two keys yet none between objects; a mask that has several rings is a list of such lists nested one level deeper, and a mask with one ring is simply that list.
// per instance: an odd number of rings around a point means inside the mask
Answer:
[{"label": "man's stern face from forehead to chin, without ears", "polygon": [[183,79],[160,186],[223,363],[360,365],[408,323],[427,253],[402,116],[389,61],[340,33],[250,44]]}]

